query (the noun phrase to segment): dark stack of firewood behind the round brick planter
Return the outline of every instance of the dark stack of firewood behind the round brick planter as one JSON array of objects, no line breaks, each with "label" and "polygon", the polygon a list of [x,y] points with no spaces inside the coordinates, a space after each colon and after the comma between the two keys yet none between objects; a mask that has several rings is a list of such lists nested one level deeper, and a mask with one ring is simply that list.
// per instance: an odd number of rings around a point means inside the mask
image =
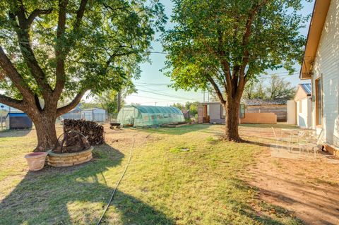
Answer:
[{"label": "dark stack of firewood behind the round brick planter", "polygon": [[64,120],[64,132],[70,130],[82,133],[87,138],[90,145],[102,145],[105,142],[104,127],[93,121],[76,119]]}]

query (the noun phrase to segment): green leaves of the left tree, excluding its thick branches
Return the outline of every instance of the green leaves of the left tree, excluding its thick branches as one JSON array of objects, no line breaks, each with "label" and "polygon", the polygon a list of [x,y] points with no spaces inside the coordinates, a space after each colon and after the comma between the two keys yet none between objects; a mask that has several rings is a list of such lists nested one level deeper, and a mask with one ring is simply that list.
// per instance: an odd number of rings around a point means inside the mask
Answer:
[{"label": "green leaves of the left tree, excluding its thick branches", "polygon": [[[58,57],[64,60],[66,80],[62,97],[71,97],[84,88],[94,93],[119,90],[121,85],[128,85],[131,78],[138,78],[138,63],[148,59],[154,30],[162,29],[166,20],[164,8],[157,0],[98,0],[88,1],[77,28],[80,2],[68,1],[65,31],[57,37],[59,1],[23,1],[27,18],[37,9],[52,8],[51,13],[33,20],[30,45],[52,88],[57,80],[55,52],[61,52]],[[42,87],[37,85],[23,61],[16,24],[8,17],[8,12],[15,14],[19,6],[19,1],[1,1],[0,43],[25,83],[40,96]],[[13,95],[19,94],[11,80],[0,80],[0,87]]]}]

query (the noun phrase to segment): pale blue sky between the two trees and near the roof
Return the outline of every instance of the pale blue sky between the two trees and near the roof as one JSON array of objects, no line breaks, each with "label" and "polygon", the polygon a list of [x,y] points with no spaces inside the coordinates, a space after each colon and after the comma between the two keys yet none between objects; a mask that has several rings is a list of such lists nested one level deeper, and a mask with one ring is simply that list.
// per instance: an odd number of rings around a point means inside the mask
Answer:
[{"label": "pale blue sky between the two trees and near the roof", "polygon": [[[165,13],[169,18],[172,13],[172,1],[162,0],[162,4],[165,5]],[[308,15],[313,10],[314,2],[311,3],[304,2],[304,8],[301,13]],[[167,22],[166,28],[170,28],[171,23]],[[308,32],[307,28],[301,30],[302,34],[306,37]],[[159,37],[159,33],[156,34],[156,37]],[[162,46],[160,42],[154,41],[152,43],[153,51],[162,51]],[[165,77],[159,70],[165,66],[165,54],[151,54],[150,59],[152,63],[143,63],[141,65],[141,78],[135,81],[136,87],[138,89],[137,94],[130,95],[127,97],[126,104],[139,103],[144,105],[159,105],[167,106],[173,104],[174,102],[192,102],[192,101],[203,101],[203,93],[200,92],[184,92],[182,90],[175,91],[170,87],[167,87],[167,84],[170,83],[170,78]],[[297,73],[295,75],[286,75],[284,70],[279,71],[268,71],[268,73],[279,73],[285,80],[288,80],[292,85],[297,85],[299,83],[307,83],[306,81],[299,80],[299,69],[300,66],[296,65]],[[267,79],[264,79],[267,80]],[[206,94],[207,100],[207,94]]]}]

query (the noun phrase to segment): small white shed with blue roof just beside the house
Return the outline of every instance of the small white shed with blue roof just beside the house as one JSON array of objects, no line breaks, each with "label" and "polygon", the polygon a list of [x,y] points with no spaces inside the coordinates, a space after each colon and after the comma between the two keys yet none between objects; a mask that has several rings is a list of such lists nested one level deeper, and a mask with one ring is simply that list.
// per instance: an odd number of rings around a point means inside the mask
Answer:
[{"label": "small white shed with blue roof just beside the house", "polygon": [[300,84],[295,94],[297,125],[301,128],[311,128],[311,84]]}]

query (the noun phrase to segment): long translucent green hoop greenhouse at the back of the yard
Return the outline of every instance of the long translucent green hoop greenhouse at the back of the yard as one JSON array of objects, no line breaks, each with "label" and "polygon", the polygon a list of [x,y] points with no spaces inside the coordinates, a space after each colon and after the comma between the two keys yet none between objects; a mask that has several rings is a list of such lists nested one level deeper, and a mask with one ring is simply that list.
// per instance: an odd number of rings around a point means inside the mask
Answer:
[{"label": "long translucent green hoop greenhouse at the back of the yard", "polygon": [[158,126],[184,122],[182,111],[176,107],[126,106],[119,111],[117,122],[121,126]]}]

